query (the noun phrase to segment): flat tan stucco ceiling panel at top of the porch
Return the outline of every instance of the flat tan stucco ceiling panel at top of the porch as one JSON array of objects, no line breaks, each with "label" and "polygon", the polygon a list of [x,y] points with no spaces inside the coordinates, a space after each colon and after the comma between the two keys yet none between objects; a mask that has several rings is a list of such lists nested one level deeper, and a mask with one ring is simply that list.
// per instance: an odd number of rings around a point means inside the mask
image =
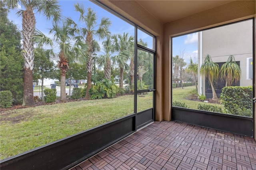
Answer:
[{"label": "flat tan stucco ceiling panel at top of the porch", "polygon": [[221,6],[234,0],[136,0],[162,23]]}]

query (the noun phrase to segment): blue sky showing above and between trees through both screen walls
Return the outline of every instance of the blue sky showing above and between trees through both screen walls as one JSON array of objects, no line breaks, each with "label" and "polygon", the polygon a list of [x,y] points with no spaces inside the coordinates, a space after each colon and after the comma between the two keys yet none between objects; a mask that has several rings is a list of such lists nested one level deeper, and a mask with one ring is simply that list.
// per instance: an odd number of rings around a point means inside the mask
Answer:
[{"label": "blue sky showing above and between trees through both screen walls", "polygon": [[[110,32],[112,34],[117,33],[123,33],[128,32],[131,36],[134,36],[134,26],[128,24],[124,20],[118,18],[117,16],[114,16],[110,12],[104,10],[100,6],[94,4],[93,2],[90,2],[88,0],[60,0],[58,1],[59,5],[62,9],[62,15],[64,17],[71,17],[75,22],[79,23],[79,16],[80,13],[75,11],[74,4],[84,4],[84,8],[87,9],[88,7],[91,7],[94,12],[96,12],[98,20],[100,22],[100,19],[102,17],[110,18],[112,21],[112,26],[110,27]],[[22,8],[20,6],[20,8]],[[8,15],[8,18],[12,20],[15,24],[18,25],[18,28],[22,30],[22,18],[18,17],[16,15],[17,10],[10,10],[10,13]],[[45,35],[49,36],[48,29],[51,28],[52,23],[51,21],[47,21],[46,17],[44,17],[42,14],[36,13],[36,28],[43,32]],[[82,23],[80,24],[82,27]],[[152,38],[144,35],[138,35],[138,37],[143,38],[144,42],[148,42],[148,47],[152,47]],[[101,45],[102,40],[98,41]],[[183,57],[184,60],[188,63],[190,56],[192,57],[194,62],[197,62],[197,49],[198,49],[198,43],[197,43],[197,33],[194,34],[188,34],[180,37],[173,38],[173,53],[172,56],[180,55]]]}]

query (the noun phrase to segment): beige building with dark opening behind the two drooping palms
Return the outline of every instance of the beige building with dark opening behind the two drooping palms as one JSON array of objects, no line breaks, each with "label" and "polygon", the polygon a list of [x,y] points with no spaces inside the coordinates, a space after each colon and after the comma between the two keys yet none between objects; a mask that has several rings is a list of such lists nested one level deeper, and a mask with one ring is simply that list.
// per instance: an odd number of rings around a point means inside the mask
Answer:
[{"label": "beige building with dark opening behind the two drooping palms", "polygon": [[[233,55],[241,68],[241,78],[238,85],[252,85],[252,25],[252,20],[246,20],[198,32],[198,65],[204,62],[208,54],[212,57],[212,61],[219,65],[225,63],[228,57]],[[204,77],[200,76],[200,73],[198,77],[198,93],[205,94],[206,81]],[[215,85],[216,89],[221,90],[225,86],[225,82],[219,79]]]}]

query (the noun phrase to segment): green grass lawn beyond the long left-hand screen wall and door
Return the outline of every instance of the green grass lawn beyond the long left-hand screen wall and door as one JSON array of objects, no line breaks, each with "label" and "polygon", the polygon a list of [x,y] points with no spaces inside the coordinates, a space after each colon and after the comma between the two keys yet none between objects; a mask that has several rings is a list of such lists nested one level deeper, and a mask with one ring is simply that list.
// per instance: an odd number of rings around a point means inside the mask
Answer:
[{"label": "green grass lawn beyond the long left-hand screen wall and door", "polygon": [[[140,111],[152,107],[151,94],[138,100]],[[133,109],[134,96],[124,95],[1,111],[0,159],[130,115]]]}]

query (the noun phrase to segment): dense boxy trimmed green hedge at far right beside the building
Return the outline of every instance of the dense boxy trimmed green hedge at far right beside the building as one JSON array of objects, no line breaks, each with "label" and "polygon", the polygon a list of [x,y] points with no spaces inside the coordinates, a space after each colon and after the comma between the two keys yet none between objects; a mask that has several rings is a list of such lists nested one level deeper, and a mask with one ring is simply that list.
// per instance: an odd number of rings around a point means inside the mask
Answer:
[{"label": "dense boxy trimmed green hedge at far right beside the building", "polygon": [[243,115],[243,113],[248,112],[246,109],[252,111],[252,86],[223,87],[220,97],[222,99],[222,104],[225,107],[225,113]]}]

